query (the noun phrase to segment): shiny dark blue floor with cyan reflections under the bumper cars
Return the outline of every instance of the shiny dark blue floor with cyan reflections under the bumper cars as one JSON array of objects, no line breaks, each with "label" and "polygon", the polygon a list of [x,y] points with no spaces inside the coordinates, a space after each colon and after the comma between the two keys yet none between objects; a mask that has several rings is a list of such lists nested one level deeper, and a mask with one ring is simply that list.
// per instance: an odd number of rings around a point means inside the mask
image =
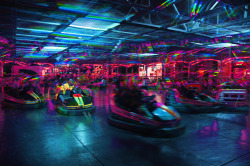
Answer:
[{"label": "shiny dark blue floor with cyan reflections under the bumper cars", "polygon": [[186,134],[144,137],[107,124],[110,89],[91,93],[92,115],[59,115],[51,100],[39,110],[1,108],[0,165],[250,165],[250,113],[183,114]]}]

